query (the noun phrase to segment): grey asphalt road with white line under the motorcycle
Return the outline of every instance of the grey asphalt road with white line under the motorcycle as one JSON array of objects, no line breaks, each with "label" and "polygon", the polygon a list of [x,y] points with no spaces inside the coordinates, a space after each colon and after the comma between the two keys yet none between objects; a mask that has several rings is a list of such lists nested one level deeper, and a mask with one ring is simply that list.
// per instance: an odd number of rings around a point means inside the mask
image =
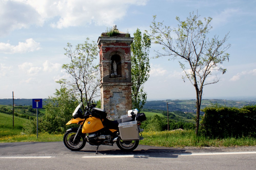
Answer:
[{"label": "grey asphalt road with white line under the motorcycle", "polygon": [[0,169],[255,169],[256,147],[165,148],[139,145],[68,150],[63,142],[0,143]]}]

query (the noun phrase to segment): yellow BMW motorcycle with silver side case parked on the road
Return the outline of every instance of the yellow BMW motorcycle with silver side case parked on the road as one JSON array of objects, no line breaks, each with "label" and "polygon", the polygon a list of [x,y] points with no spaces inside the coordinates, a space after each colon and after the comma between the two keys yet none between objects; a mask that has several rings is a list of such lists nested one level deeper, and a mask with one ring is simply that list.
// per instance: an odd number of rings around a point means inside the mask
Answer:
[{"label": "yellow BMW motorcycle with silver side case parked on the road", "polygon": [[63,142],[65,146],[73,151],[81,150],[86,142],[96,145],[96,153],[99,145],[112,145],[116,142],[118,148],[123,151],[133,151],[137,148],[139,140],[142,140],[140,128],[141,122],[146,120],[144,113],[138,110],[130,110],[127,115],[121,116],[119,120],[106,118],[105,110],[96,108],[94,100],[90,106],[81,109],[82,102],[76,107],[73,118],[66,124],[78,124],[78,128],[70,128],[66,131]]}]

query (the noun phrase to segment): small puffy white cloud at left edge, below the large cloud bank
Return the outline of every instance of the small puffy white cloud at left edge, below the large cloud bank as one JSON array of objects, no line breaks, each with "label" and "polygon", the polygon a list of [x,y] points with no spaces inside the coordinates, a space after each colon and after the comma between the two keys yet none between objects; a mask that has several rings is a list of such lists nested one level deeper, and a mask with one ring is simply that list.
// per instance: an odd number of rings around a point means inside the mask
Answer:
[{"label": "small puffy white cloud at left edge, below the large cloud bank", "polygon": [[40,43],[35,42],[32,38],[27,39],[26,42],[19,42],[16,46],[9,43],[0,42],[0,53],[5,54],[27,53],[39,49]]}]

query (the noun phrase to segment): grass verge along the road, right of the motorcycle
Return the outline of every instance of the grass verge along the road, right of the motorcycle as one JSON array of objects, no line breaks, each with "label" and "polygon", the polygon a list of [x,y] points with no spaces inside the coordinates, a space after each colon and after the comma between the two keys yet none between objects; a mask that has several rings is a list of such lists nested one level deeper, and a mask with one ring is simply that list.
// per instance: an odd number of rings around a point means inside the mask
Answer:
[{"label": "grass verge along the road, right of the motorcycle", "polygon": [[196,136],[193,130],[143,132],[144,140],[140,144],[163,147],[183,148],[191,147],[232,147],[232,146],[256,146],[255,138],[226,138],[209,139],[204,136]]}]

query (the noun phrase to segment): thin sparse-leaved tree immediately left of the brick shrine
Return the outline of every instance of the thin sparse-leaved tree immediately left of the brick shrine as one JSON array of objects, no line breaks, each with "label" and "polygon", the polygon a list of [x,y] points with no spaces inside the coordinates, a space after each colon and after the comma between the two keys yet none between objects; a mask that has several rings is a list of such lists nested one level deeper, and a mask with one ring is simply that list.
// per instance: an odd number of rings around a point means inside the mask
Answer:
[{"label": "thin sparse-leaved tree immediately left of the brick shrine", "polygon": [[[73,50],[70,43],[67,44],[65,55],[70,59],[69,64],[63,64],[62,68],[69,74],[70,79],[57,81],[68,85],[68,88],[80,98],[81,102],[90,104],[94,97],[99,96],[100,76],[98,64],[94,60],[99,54],[97,44],[89,38],[83,44],[78,44]],[[82,106],[84,110],[84,105]]]}]

